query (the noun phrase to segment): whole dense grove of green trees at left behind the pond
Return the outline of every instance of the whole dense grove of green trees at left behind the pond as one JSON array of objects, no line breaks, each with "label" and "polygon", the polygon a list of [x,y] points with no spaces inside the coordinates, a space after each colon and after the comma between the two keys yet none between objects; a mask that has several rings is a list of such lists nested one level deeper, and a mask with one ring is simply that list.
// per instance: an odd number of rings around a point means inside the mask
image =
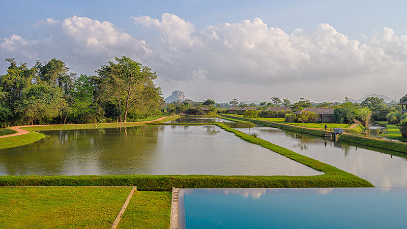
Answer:
[{"label": "whole dense grove of green trees at left behind the pond", "polygon": [[33,67],[6,59],[0,77],[0,122],[8,125],[128,122],[160,113],[156,72],[122,56],[96,75],[70,72],[57,59]]}]

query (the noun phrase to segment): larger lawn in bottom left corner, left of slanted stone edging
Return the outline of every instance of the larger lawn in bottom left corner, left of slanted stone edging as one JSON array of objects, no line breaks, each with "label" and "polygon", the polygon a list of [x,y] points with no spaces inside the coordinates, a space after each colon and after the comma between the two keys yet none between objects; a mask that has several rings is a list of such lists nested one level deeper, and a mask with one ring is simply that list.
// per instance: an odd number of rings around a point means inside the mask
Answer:
[{"label": "larger lawn in bottom left corner, left of slanted stone edging", "polygon": [[131,187],[0,188],[1,228],[110,228]]}]

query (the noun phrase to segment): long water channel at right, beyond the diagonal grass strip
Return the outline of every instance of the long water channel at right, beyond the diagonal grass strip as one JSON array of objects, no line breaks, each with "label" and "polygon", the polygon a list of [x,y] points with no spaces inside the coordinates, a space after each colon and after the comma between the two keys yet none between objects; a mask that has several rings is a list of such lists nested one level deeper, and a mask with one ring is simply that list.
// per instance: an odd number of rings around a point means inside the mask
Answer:
[{"label": "long water channel at right, beyond the diagonal grass strip", "polygon": [[407,187],[407,154],[379,152],[271,127],[238,129],[343,169],[376,187]]}]

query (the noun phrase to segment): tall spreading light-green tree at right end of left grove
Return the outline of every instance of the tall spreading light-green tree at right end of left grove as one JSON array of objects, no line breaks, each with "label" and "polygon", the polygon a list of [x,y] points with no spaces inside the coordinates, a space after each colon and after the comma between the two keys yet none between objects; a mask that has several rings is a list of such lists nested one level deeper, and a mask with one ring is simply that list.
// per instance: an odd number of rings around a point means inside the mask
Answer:
[{"label": "tall spreading light-green tree at right end of left grove", "polygon": [[123,122],[131,108],[141,115],[158,110],[163,98],[161,88],[153,82],[157,79],[156,72],[126,56],[115,60],[117,63],[108,62],[96,71],[102,79],[101,99],[111,101],[123,110]]}]

